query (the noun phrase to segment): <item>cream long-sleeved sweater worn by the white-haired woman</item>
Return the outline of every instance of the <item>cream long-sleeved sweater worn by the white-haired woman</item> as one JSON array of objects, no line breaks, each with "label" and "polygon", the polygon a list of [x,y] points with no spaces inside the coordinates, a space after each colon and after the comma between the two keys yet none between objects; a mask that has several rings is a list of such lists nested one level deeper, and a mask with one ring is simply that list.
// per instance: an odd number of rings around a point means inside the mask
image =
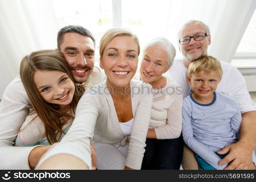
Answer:
[{"label": "cream long-sleeved sweater worn by the white-haired woman", "polygon": [[[134,79],[140,80],[136,74]],[[180,137],[182,130],[182,88],[166,77],[166,86],[153,90],[153,103],[149,128],[154,128],[157,139]]]}]

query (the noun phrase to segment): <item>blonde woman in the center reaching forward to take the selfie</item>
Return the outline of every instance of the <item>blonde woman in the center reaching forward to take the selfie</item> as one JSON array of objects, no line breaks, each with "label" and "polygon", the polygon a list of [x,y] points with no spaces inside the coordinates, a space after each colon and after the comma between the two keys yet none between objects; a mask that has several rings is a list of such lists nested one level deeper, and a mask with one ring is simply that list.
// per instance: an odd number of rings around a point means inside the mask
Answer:
[{"label": "blonde woman in the center reaching forward to take the selfie", "polygon": [[97,169],[141,168],[152,94],[138,91],[152,87],[132,80],[140,53],[138,37],[127,29],[109,29],[99,51],[106,82],[86,90],[71,128],[39,162],[39,169],[91,169],[90,138]]}]

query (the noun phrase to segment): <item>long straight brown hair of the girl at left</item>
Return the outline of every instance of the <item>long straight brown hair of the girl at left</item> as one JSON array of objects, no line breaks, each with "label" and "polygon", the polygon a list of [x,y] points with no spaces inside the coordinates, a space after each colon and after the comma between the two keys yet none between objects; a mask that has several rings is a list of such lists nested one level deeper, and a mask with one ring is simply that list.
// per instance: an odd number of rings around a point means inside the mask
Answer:
[{"label": "long straight brown hair of the girl at left", "polygon": [[[65,61],[64,55],[57,50],[32,52],[30,55],[25,56],[20,63],[20,78],[29,97],[31,106],[33,107],[30,114],[34,112],[37,113],[37,116],[44,123],[46,139],[52,144],[59,141],[62,133],[65,134],[62,127],[69,119],[73,120],[74,116],[58,111],[58,104],[48,103],[42,98],[33,79],[37,70],[64,72],[74,84],[75,81],[72,76],[71,68]],[[75,113],[76,105],[84,92],[82,86],[76,84],[75,86],[75,93],[70,103],[70,108],[73,113]]]}]

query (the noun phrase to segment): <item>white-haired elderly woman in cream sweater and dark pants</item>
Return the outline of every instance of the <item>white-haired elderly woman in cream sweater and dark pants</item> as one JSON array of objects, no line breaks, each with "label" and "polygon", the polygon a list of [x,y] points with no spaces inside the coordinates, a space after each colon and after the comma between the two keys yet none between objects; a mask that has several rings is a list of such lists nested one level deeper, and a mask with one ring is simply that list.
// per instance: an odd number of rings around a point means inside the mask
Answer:
[{"label": "white-haired elderly woman in cream sweater and dark pants", "polygon": [[151,40],[143,51],[139,79],[153,86],[153,103],[142,169],[180,169],[182,88],[163,76],[175,55],[173,44],[164,37]]}]

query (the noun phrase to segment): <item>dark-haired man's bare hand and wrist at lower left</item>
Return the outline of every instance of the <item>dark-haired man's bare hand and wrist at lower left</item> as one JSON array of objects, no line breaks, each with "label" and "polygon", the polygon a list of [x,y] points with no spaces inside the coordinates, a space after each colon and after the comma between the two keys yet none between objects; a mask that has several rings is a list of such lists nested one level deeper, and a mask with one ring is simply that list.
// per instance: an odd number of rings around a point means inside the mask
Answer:
[{"label": "dark-haired man's bare hand and wrist at lower left", "polygon": [[51,145],[35,147],[29,154],[29,167],[34,169],[41,157],[49,150]]}]

